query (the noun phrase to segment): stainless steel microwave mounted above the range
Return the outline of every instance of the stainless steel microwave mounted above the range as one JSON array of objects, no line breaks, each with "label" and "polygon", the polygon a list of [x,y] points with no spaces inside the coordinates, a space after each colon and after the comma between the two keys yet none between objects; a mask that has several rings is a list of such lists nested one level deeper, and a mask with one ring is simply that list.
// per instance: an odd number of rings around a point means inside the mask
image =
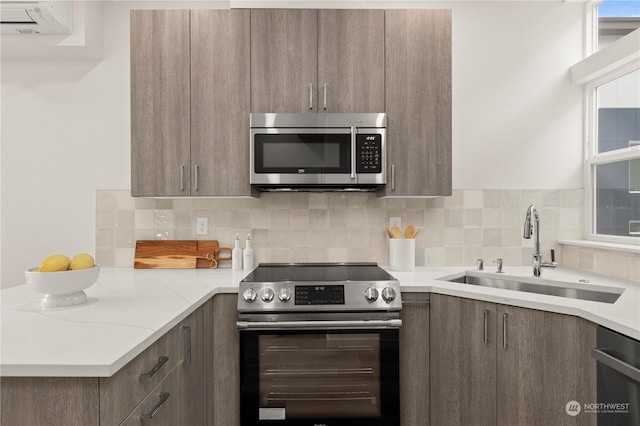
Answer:
[{"label": "stainless steel microwave mounted above the range", "polygon": [[262,191],[376,191],[386,184],[384,113],[254,113],[250,182]]}]

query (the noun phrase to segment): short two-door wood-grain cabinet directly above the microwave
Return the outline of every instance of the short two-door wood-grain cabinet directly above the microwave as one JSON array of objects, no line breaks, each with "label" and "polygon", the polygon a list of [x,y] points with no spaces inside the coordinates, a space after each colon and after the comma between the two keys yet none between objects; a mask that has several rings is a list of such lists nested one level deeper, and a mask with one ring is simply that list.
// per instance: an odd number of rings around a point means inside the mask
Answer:
[{"label": "short two-door wood-grain cabinet directly above the microwave", "polygon": [[384,11],[252,10],[251,111],[384,111]]}]

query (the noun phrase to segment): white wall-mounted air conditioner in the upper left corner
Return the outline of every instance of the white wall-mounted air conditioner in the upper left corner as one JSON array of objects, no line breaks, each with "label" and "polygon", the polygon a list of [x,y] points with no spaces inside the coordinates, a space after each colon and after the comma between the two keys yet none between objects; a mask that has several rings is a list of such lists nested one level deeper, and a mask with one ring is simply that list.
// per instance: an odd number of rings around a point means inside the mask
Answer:
[{"label": "white wall-mounted air conditioner in the upper left corner", "polygon": [[71,34],[71,1],[0,1],[2,35]]}]

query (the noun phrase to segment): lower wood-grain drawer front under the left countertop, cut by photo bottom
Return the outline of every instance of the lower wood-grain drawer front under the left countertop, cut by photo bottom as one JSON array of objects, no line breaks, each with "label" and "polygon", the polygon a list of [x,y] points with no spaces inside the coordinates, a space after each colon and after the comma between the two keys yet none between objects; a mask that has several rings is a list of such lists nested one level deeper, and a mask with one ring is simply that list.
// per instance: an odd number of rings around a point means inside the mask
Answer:
[{"label": "lower wood-grain drawer front under the left countertop, cut by photo bottom", "polygon": [[176,426],[180,424],[181,367],[173,370],[147,395],[121,426]]}]

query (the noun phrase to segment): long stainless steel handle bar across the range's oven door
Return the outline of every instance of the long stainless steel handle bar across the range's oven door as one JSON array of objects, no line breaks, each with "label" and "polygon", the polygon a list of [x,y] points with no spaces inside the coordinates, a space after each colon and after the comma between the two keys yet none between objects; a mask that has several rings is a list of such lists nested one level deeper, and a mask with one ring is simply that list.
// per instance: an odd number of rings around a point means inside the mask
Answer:
[{"label": "long stainless steel handle bar across the range's oven door", "polygon": [[237,321],[238,329],[252,330],[337,330],[400,328],[402,320],[355,321]]}]

